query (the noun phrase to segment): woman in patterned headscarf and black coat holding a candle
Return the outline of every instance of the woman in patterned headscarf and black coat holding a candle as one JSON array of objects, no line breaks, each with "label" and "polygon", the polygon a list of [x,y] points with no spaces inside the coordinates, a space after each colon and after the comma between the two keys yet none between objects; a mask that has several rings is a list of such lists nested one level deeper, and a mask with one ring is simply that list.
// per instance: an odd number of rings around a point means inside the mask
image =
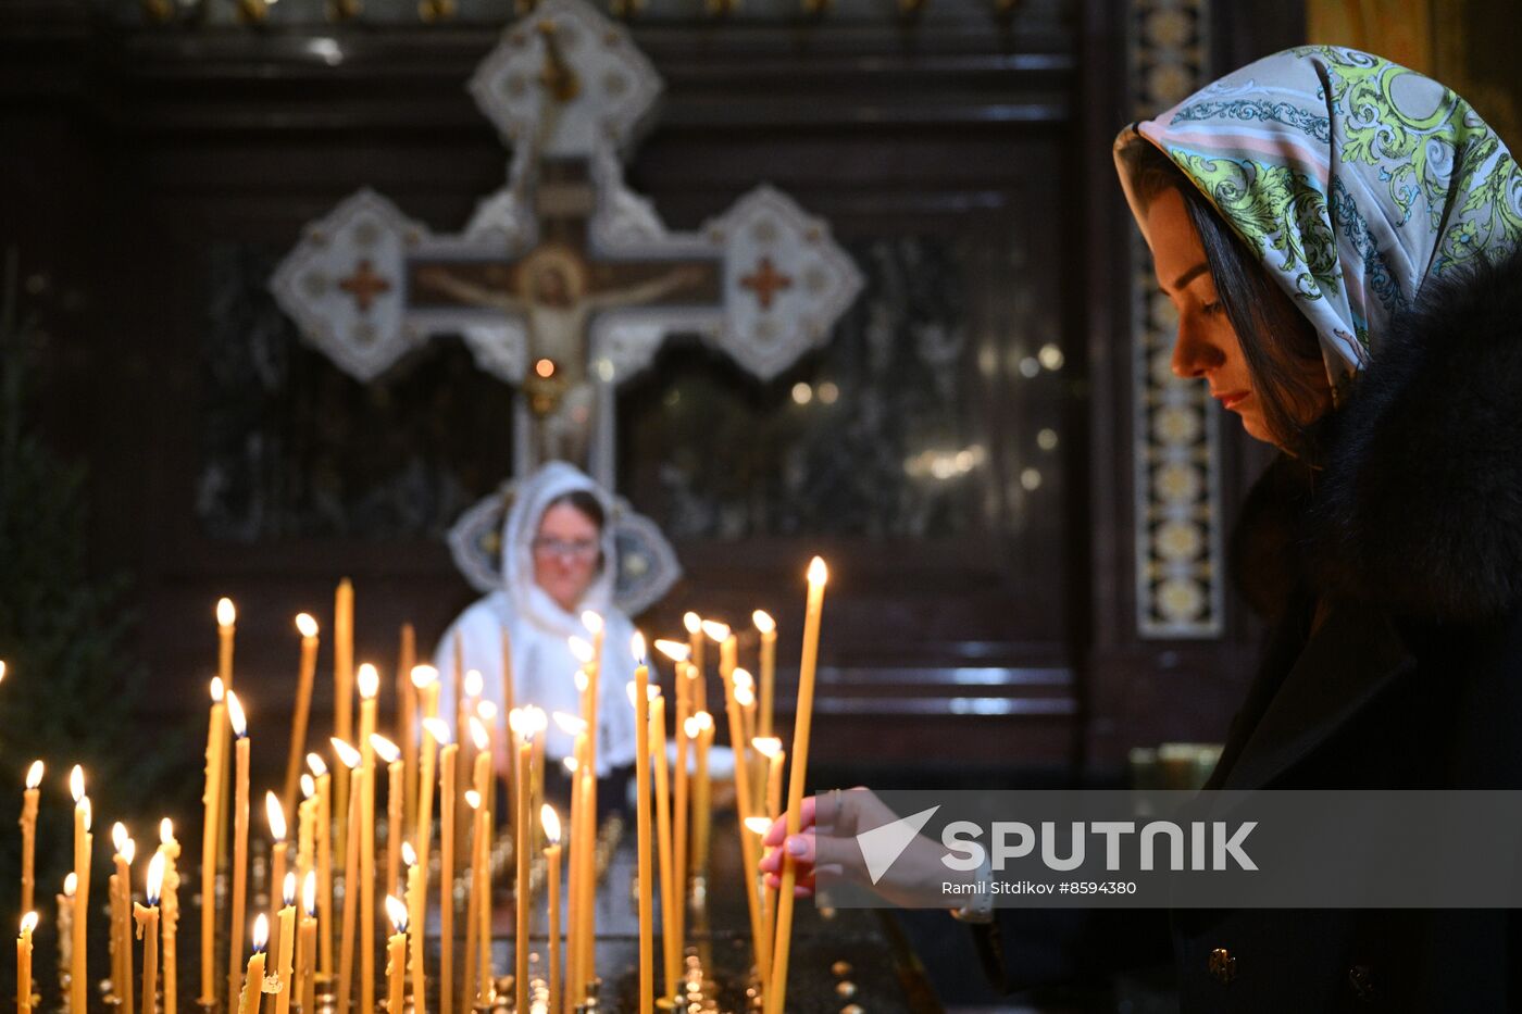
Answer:
[{"label": "woman in patterned headscarf and black coat holding a candle", "polygon": [[[1522,789],[1522,171],[1450,90],[1336,47],[1222,78],[1116,161],[1175,375],[1286,452],[1236,542],[1272,633],[1208,787]],[[767,843],[804,883],[836,862]],[[1000,910],[979,939],[1021,988],[1170,938],[1184,1011],[1522,1009],[1508,910],[1151,915]]]}]

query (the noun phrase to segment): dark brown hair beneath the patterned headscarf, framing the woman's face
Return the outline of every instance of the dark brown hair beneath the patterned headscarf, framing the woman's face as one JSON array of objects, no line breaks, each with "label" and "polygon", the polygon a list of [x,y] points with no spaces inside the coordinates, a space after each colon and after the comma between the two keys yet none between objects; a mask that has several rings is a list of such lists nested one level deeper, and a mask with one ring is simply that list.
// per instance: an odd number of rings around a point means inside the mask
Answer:
[{"label": "dark brown hair beneath the patterned headscarf, framing the woman's face", "polygon": [[1312,451],[1315,425],[1300,422],[1323,397],[1303,371],[1307,362],[1321,362],[1321,343],[1310,318],[1274,283],[1257,254],[1199,187],[1155,145],[1137,137],[1120,157],[1143,206],[1166,189],[1184,198],[1184,212],[1205,250],[1218,298],[1242,343],[1269,432],[1295,454]]}]

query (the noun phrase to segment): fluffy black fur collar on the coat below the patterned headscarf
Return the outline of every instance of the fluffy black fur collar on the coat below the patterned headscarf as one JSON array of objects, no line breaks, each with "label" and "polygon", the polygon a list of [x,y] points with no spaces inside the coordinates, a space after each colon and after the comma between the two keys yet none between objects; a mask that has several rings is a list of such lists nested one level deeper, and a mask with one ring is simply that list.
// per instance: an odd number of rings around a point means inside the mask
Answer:
[{"label": "fluffy black fur collar on the coat below the patterned headscarf", "polygon": [[[1265,545],[1283,547],[1277,527],[1301,548],[1298,574],[1333,595],[1434,621],[1517,606],[1522,250],[1431,282],[1324,426],[1321,448],[1323,467],[1285,460],[1250,496],[1243,519],[1257,531],[1237,540],[1239,565],[1253,565],[1243,550],[1263,563]],[[1272,612],[1282,589],[1245,576],[1250,600]],[[1263,577],[1295,576],[1280,565]]]}]

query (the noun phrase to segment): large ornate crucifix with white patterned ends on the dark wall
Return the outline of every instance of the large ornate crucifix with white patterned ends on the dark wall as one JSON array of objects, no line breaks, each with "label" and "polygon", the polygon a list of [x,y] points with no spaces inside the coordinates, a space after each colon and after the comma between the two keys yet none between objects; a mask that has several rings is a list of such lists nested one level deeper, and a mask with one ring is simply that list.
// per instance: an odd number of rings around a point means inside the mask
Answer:
[{"label": "large ornate crucifix with white patterned ends on the dark wall", "polygon": [[[562,458],[612,492],[616,390],[668,335],[697,335],[770,379],[825,343],[861,289],[828,227],[769,186],[696,231],[665,227],[621,163],[661,79],[583,0],[543,0],[508,26],[470,91],[513,158],[464,231],[435,234],[365,189],[306,228],[271,289],[359,381],[434,335],[461,335],[514,388],[514,477]],[[484,504],[461,521],[478,534]],[[653,525],[641,537],[661,540]],[[490,568],[455,550],[489,586]]]}]

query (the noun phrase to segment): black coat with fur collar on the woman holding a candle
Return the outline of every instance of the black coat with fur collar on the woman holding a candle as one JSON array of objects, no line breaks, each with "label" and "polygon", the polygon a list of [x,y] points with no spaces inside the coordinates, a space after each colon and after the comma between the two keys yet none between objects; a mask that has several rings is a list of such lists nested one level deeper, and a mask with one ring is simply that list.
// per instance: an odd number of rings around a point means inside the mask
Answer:
[{"label": "black coat with fur collar on the woman holding a candle", "polygon": [[[1522,789],[1522,256],[1429,285],[1321,442],[1243,512],[1272,632],[1208,787]],[[1079,955],[1161,930],[1096,915]],[[1172,942],[1184,1014],[1522,1011],[1513,910],[1177,910]]]}]

